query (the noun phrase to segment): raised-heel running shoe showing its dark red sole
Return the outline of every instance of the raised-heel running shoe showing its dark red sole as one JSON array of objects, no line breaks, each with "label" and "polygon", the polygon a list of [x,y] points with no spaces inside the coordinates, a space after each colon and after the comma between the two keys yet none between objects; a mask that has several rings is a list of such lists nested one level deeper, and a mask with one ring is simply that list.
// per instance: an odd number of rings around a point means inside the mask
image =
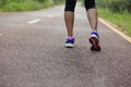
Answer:
[{"label": "raised-heel running shoe showing its dark red sole", "polygon": [[100,46],[99,46],[99,37],[98,37],[98,35],[96,34],[92,34],[91,35],[91,37],[90,37],[90,42],[91,42],[91,50],[92,51],[100,51],[102,50],[102,48],[100,48]]}]

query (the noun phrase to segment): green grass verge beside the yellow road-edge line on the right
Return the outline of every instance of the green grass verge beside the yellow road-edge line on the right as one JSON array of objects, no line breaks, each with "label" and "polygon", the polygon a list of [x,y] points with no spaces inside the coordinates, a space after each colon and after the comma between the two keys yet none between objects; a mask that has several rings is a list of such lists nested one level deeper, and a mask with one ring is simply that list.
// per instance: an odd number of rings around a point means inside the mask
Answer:
[{"label": "green grass verge beside the yellow road-edge line on the right", "polygon": [[111,22],[131,36],[131,13],[117,13],[106,9],[99,9],[98,13],[99,17]]}]

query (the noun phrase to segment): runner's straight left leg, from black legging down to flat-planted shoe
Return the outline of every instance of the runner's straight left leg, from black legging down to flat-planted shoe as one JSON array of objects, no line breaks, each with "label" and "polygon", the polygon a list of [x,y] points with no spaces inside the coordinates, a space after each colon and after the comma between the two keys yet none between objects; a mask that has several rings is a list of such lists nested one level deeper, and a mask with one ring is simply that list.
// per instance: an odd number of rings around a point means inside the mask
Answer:
[{"label": "runner's straight left leg, from black legging down to flat-planted shoe", "polygon": [[76,0],[66,0],[64,21],[66,21],[68,37],[64,46],[67,48],[74,47],[73,25],[74,25],[75,4],[76,4]]}]

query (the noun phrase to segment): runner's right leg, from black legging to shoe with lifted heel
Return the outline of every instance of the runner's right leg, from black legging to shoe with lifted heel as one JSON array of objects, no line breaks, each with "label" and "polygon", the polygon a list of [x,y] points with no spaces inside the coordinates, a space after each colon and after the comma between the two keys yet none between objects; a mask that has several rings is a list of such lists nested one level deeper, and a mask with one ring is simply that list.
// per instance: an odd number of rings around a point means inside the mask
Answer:
[{"label": "runner's right leg, from black legging to shoe with lifted heel", "polygon": [[85,0],[85,8],[87,11],[87,17],[92,27],[91,38],[88,39],[90,42],[92,44],[91,50],[100,51],[99,36],[97,33],[98,14],[95,8],[95,0]]}]

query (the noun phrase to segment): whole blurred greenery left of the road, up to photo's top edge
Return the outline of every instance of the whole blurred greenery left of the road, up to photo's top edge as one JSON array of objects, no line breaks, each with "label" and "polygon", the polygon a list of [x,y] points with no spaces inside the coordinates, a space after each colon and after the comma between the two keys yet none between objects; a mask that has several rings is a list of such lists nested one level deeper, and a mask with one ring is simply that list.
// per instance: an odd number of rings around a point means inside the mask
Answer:
[{"label": "whole blurred greenery left of the road, up to photo's top edge", "polygon": [[0,11],[32,11],[62,2],[63,0],[0,0]]}]

